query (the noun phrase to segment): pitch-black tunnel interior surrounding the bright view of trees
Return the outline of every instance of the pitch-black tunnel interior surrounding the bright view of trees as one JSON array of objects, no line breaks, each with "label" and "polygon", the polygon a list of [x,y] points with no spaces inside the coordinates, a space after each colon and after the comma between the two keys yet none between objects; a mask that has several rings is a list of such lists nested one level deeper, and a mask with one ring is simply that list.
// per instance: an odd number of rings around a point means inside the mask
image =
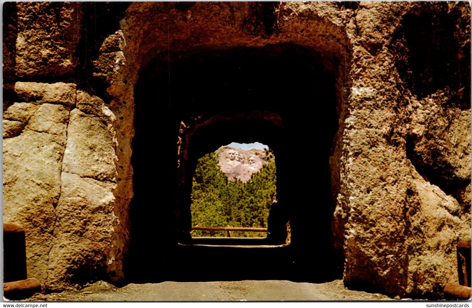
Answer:
[{"label": "pitch-black tunnel interior surrounding the bright view of trees", "polygon": [[[291,44],[159,53],[135,86],[129,277],[133,282],[339,279],[333,257],[329,157],[335,148],[337,63]],[[188,243],[197,160],[230,142],[274,151],[278,248]],[[336,167],[336,166],[335,166]]]}]

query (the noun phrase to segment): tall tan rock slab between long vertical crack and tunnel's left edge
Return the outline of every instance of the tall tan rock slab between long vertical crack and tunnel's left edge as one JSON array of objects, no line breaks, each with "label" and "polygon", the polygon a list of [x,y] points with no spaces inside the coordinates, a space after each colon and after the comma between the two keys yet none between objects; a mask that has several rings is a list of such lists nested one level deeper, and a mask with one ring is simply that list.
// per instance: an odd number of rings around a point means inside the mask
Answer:
[{"label": "tall tan rock slab between long vertical crack and tunnel's left edge", "polygon": [[98,279],[114,262],[117,172],[111,123],[115,119],[101,99],[77,92],[62,160],[61,196],[46,282],[49,289],[78,287]]}]

